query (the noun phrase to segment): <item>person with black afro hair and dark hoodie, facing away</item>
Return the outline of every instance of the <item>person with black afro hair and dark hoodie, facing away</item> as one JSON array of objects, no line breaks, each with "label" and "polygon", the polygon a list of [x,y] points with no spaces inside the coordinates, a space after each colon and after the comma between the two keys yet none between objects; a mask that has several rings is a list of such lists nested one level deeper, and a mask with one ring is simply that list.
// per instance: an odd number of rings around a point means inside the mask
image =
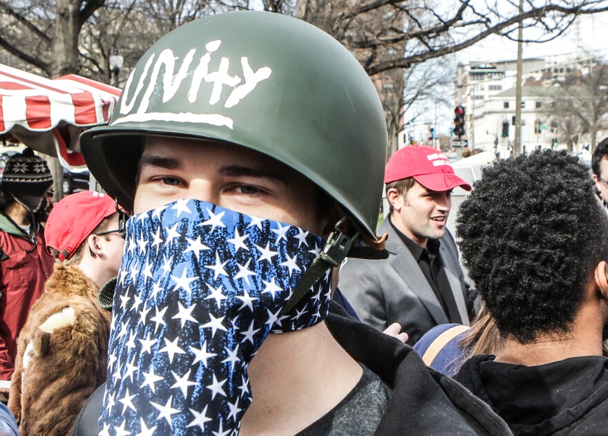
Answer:
[{"label": "person with black afro hair and dark hoodie, facing away", "polygon": [[456,225],[464,265],[495,321],[497,355],[457,381],[515,435],[608,428],[608,218],[578,158],[536,151],[482,171]]}]

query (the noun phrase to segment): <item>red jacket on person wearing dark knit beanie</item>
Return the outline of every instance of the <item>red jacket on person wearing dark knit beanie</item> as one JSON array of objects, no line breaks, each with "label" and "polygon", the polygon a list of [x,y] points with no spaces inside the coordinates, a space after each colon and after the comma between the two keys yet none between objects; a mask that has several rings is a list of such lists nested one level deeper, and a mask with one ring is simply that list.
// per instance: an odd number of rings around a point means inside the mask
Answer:
[{"label": "red jacket on person wearing dark knit beanie", "polygon": [[17,337],[30,307],[44,292],[55,260],[46,252],[44,229],[37,244],[6,216],[0,215],[0,380],[10,380],[15,368]]}]

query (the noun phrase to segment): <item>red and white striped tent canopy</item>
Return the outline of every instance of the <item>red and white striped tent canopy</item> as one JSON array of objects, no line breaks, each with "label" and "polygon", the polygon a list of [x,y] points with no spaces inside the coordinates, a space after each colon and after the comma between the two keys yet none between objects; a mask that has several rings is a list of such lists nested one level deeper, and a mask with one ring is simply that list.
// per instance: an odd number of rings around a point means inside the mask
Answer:
[{"label": "red and white striped tent canopy", "polygon": [[70,74],[47,79],[0,64],[0,135],[57,156],[64,167],[84,167],[78,138],[107,124],[120,89]]}]

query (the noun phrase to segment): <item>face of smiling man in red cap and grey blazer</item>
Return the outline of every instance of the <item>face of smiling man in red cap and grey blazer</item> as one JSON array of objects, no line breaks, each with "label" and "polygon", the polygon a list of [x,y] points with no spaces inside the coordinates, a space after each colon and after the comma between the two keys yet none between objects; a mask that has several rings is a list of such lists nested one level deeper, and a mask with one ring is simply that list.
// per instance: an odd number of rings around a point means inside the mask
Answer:
[{"label": "face of smiling man in red cap and grey blazer", "polygon": [[392,223],[415,243],[426,247],[426,240],[439,239],[446,232],[446,221],[452,207],[452,190],[430,191],[418,182],[399,195]]}]

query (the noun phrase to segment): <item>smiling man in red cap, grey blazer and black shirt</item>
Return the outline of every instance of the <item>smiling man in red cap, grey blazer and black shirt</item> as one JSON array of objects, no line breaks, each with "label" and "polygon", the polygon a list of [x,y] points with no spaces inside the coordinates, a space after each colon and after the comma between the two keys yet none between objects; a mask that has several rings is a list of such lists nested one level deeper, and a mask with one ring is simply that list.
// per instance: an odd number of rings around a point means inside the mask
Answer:
[{"label": "smiling man in red cap, grey blazer and black shirt", "polygon": [[388,234],[386,260],[348,259],[340,290],[361,321],[384,330],[399,323],[414,344],[444,323],[468,324],[475,292],[446,230],[452,190],[471,186],[455,175],[448,158],[426,146],[392,155],[384,176],[390,214],[379,227]]}]

